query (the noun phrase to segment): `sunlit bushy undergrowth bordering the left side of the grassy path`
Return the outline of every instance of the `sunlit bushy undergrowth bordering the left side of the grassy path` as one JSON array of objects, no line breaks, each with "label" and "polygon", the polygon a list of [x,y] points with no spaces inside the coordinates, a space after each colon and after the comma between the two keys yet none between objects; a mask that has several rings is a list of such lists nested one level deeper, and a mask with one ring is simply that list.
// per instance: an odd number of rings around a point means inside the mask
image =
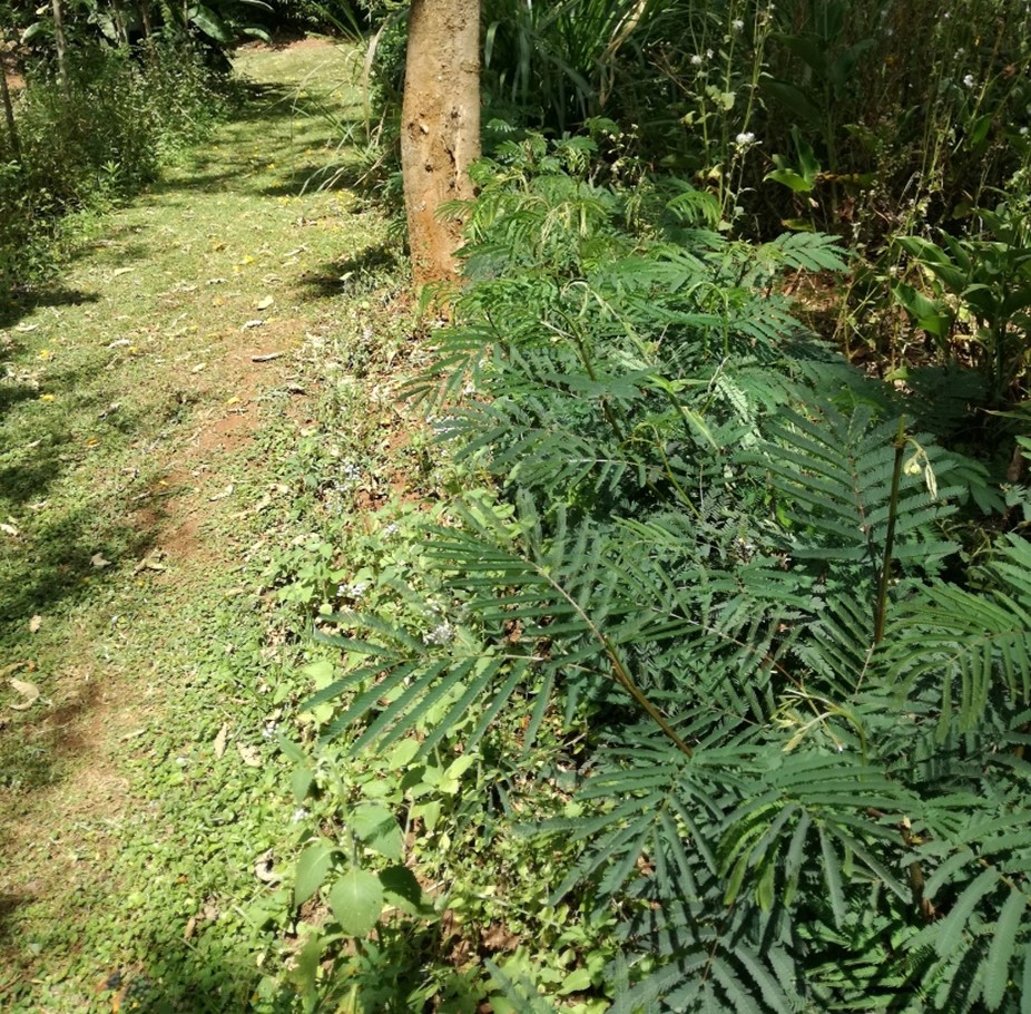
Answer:
[{"label": "sunlit bushy undergrowth bordering the left side of the grassy path", "polygon": [[226,108],[219,82],[185,40],[145,51],[87,46],[68,89],[39,61],[16,92],[17,133],[0,131],[0,299],[53,275],[77,227],[156,178]]}]

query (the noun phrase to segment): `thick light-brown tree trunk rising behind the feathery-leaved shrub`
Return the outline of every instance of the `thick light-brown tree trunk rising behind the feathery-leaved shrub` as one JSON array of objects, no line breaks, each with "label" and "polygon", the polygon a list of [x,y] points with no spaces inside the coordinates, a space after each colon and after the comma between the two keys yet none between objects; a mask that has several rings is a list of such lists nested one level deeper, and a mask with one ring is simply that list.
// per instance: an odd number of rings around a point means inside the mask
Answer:
[{"label": "thick light-brown tree trunk rising behind the feathery-leaved shrub", "polygon": [[458,279],[462,223],[445,201],[473,196],[480,157],[480,0],[412,0],[401,168],[412,269],[419,285]]}]

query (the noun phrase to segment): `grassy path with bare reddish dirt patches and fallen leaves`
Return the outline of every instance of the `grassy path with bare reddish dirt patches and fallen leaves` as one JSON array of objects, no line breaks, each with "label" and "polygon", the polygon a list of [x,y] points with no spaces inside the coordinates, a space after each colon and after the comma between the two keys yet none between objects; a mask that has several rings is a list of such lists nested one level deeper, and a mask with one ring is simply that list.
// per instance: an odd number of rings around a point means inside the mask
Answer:
[{"label": "grassy path with bare reddish dirt patches and fallen leaves", "polygon": [[[291,657],[239,574],[292,493],[298,352],[338,328],[383,223],[343,187],[348,53],[239,65],[244,114],[0,319],[3,1010],[111,1010],[134,975],[161,1010],[251,1003],[234,968],[289,807],[263,751]],[[326,166],[337,185],[306,186]]]}]

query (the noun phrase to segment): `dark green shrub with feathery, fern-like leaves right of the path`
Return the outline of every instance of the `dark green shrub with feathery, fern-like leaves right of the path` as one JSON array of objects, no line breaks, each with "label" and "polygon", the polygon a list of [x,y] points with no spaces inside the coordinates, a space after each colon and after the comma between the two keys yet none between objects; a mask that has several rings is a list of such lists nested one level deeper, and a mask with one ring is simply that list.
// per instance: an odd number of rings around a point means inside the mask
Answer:
[{"label": "dark green shrub with feathery, fern-like leaves right of the path", "polygon": [[[435,846],[438,907],[493,876],[504,926],[547,885],[493,953],[500,1010],[1021,1010],[1031,554],[950,446],[962,399],[798,323],[782,280],[843,271],[832,237],[728,240],[711,194],[629,199],[592,155],[531,137],[479,169],[471,284],[413,387],[467,491],[386,612],[318,617],[320,750],[403,754],[383,832]],[[325,800],[338,761],[297,760]],[[512,825],[526,851],[492,844]],[[384,857],[334,833],[343,926]],[[477,839],[472,874],[449,849]]]}]

